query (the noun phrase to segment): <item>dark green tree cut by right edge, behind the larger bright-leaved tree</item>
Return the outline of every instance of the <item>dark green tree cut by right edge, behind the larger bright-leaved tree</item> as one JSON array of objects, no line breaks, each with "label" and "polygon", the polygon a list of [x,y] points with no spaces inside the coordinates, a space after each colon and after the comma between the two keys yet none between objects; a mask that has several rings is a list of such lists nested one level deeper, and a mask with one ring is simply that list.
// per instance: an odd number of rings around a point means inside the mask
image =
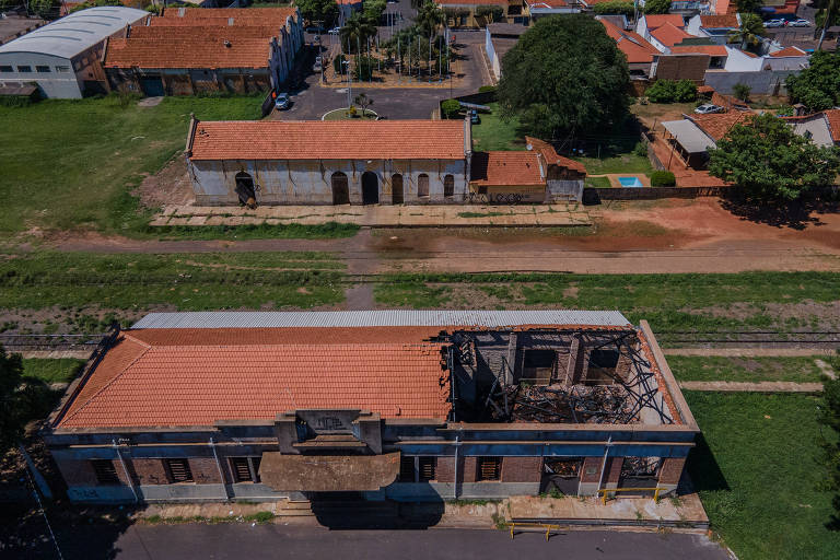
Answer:
[{"label": "dark green tree cut by right edge, behind the larger bright-leaved tree", "polygon": [[810,66],[785,82],[791,103],[802,103],[809,112],[840,105],[840,54],[814,52]]}]

